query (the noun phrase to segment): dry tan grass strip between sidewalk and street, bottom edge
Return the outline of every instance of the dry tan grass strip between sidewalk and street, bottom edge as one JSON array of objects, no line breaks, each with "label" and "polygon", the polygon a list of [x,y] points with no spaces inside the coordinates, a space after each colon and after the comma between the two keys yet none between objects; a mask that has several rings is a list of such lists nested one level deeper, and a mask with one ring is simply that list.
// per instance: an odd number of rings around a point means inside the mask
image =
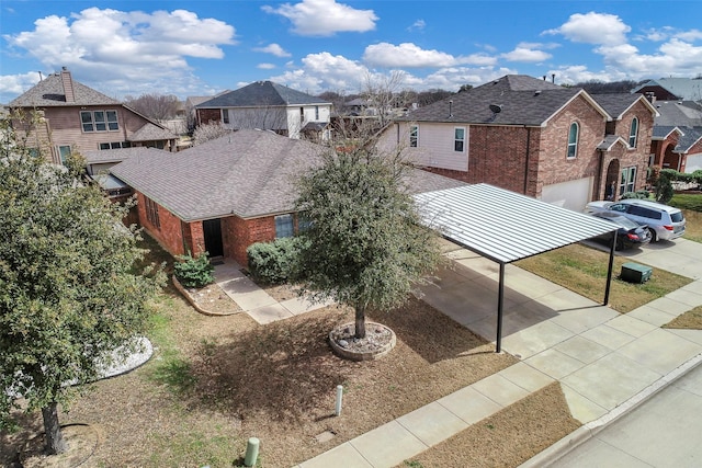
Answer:
[{"label": "dry tan grass strip between sidewalk and street, bottom edge", "polygon": [[568,411],[561,384],[554,383],[400,466],[516,467],[579,426]]}]

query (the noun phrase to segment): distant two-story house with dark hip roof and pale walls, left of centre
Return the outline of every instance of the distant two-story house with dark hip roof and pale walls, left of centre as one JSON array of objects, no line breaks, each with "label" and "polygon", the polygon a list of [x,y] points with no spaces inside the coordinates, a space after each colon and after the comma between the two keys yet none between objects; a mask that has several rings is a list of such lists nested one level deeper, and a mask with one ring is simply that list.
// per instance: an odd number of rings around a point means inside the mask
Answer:
[{"label": "distant two-story house with dark hip roof and pale walls, left of centre", "polygon": [[331,103],[272,81],[256,81],[195,106],[197,125],[220,122],[238,130],[259,128],[290,138],[326,138]]}]

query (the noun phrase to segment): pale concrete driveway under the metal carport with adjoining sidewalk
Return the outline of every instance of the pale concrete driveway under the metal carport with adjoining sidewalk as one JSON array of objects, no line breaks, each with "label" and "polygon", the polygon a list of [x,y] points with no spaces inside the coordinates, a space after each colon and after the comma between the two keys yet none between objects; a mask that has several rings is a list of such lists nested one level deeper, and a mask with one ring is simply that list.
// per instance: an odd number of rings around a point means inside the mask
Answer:
[{"label": "pale concrete driveway under the metal carport with adjoining sidewalk", "polygon": [[[690,246],[683,246],[688,252]],[[694,254],[700,250],[698,244]],[[464,249],[448,255],[455,269],[441,272],[422,299],[494,341],[498,265]],[[649,259],[667,262],[661,255]],[[699,263],[688,259],[681,273],[695,282],[627,315],[508,265],[502,350],[521,362],[298,467],[396,466],[554,380],[574,418],[605,423],[702,357],[702,331],[660,328],[702,305]]]}]

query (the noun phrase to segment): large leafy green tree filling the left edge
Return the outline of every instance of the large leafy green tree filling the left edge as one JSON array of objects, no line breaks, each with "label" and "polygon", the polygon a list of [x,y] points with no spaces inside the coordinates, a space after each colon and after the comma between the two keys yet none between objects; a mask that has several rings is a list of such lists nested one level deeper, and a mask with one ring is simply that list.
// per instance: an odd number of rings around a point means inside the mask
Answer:
[{"label": "large leafy green tree filling the left edge", "polygon": [[135,271],[144,252],[122,224],[126,208],[81,183],[77,159],[47,163],[9,121],[0,138],[0,427],[21,396],[42,410],[56,454],[67,449],[58,406],[81,389],[68,384],[95,379],[121,346],[134,351],[162,273]]}]

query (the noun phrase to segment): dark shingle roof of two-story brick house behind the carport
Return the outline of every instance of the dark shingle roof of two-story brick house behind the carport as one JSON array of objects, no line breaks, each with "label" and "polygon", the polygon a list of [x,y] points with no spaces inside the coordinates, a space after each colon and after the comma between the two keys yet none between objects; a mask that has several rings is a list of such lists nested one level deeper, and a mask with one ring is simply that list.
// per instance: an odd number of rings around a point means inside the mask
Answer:
[{"label": "dark shingle roof of two-story brick house behind the carport", "polygon": [[409,122],[544,126],[577,96],[584,96],[603,118],[609,114],[580,88],[508,75],[486,84],[420,107],[398,118]]}]

